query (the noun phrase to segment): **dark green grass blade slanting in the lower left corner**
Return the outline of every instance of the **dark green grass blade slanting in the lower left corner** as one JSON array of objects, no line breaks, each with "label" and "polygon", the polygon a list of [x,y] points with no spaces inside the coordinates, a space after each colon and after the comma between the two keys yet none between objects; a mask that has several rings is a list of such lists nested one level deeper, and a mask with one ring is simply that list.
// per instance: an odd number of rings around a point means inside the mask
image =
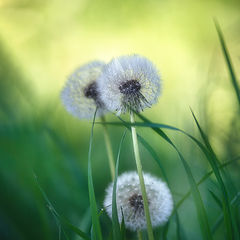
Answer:
[{"label": "dark green grass blade slanting in the lower left corner", "polygon": [[[75,232],[78,236],[82,237],[84,240],[90,240],[90,238],[88,237],[88,235],[86,233],[84,233],[83,231],[81,231],[80,229],[78,229],[77,227],[72,225],[65,217],[58,214],[58,212],[55,210],[52,203],[48,199],[47,194],[44,192],[44,190],[40,186],[40,183],[38,182],[35,174],[34,174],[34,177],[35,177],[35,181],[37,183],[37,186],[38,186],[44,200],[46,201],[46,203],[48,205],[49,210],[51,211],[53,216],[56,218],[56,220],[59,222],[59,224],[67,226],[69,229],[71,229],[73,232]],[[65,231],[63,231],[63,233],[64,233],[65,237],[68,238]]]}]

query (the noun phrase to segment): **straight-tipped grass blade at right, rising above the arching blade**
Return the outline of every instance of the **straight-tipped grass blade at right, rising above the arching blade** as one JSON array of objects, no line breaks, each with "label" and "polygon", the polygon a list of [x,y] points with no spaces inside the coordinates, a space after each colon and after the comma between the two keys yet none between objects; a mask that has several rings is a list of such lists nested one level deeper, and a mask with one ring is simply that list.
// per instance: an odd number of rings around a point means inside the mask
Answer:
[{"label": "straight-tipped grass blade at right, rising above the arching blade", "polygon": [[226,228],[227,228],[227,235],[228,235],[228,239],[232,239],[233,238],[233,226],[232,226],[232,216],[231,216],[231,207],[230,207],[230,201],[229,201],[229,197],[228,197],[228,193],[227,193],[227,190],[226,190],[226,187],[225,187],[225,184],[223,182],[223,179],[220,175],[220,172],[218,170],[218,159],[217,159],[217,156],[216,154],[214,153],[211,145],[210,145],[210,142],[208,141],[208,137],[207,135],[203,132],[196,116],[194,115],[193,111],[191,110],[192,112],[192,115],[193,115],[193,118],[196,122],[196,125],[198,127],[198,130],[201,134],[201,137],[209,151],[209,154],[210,154],[210,157],[207,158],[212,169],[213,169],[213,172],[216,176],[216,179],[219,183],[219,186],[220,186],[220,189],[221,189],[221,192],[222,192],[222,202],[223,202],[223,215],[224,215],[224,221],[225,221],[225,225],[226,225]]}]

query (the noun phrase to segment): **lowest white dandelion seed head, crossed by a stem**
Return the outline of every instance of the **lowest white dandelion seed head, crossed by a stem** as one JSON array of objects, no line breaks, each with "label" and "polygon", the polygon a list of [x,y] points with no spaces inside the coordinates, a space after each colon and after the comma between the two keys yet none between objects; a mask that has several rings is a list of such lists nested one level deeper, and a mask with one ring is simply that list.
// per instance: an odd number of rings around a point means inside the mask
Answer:
[{"label": "lowest white dandelion seed head, crossed by a stem", "polygon": [[[153,227],[166,223],[173,210],[171,192],[161,179],[145,173],[143,175],[147,192],[149,212]],[[112,218],[113,183],[106,189],[104,207]],[[119,222],[124,216],[126,228],[136,231],[146,229],[139,177],[136,172],[126,172],[117,179],[116,203]]]}]

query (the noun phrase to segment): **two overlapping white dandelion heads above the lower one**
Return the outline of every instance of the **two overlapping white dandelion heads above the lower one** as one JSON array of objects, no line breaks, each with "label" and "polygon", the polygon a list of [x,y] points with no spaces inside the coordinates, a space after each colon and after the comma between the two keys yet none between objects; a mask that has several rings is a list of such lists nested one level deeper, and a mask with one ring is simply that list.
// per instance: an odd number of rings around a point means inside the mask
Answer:
[{"label": "two overlapping white dandelion heads above the lower one", "polygon": [[129,109],[136,112],[151,107],[160,94],[160,77],[156,67],[139,55],[114,58],[110,63],[93,61],[78,68],[61,93],[69,113],[91,119],[107,110],[118,115]]}]

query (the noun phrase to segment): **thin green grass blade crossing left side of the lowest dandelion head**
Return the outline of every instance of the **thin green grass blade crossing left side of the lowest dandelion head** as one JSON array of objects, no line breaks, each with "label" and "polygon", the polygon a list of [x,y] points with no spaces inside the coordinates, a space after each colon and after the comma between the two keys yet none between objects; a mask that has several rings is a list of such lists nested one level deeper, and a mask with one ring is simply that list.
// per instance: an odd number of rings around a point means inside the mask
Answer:
[{"label": "thin green grass blade crossing left side of the lowest dandelion head", "polygon": [[126,130],[121,138],[119,149],[118,149],[118,156],[116,161],[116,168],[115,168],[115,177],[113,182],[113,194],[112,194],[112,221],[113,221],[113,239],[114,240],[121,240],[123,236],[121,236],[120,224],[118,221],[118,212],[117,212],[117,203],[116,203],[116,190],[117,190],[117,177],[118,177],[118,166],[119,166],[119,159],[120,153],[122,149],[122,143],[126,136]]}]

